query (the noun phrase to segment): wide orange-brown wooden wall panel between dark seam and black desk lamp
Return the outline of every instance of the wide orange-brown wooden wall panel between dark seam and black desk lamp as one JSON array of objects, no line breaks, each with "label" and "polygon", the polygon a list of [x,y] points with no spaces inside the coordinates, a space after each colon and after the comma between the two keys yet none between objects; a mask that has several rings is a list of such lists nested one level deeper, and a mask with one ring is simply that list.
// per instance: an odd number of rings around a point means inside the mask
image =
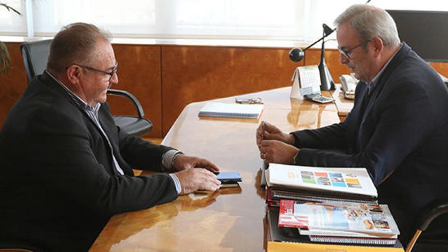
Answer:
[{"label": "wide orange-brown wooden wall panel between dark seam and black desk lamp", "polygon": [[162,46],[163,133],[185,105],[291,85],[289,49]]}]

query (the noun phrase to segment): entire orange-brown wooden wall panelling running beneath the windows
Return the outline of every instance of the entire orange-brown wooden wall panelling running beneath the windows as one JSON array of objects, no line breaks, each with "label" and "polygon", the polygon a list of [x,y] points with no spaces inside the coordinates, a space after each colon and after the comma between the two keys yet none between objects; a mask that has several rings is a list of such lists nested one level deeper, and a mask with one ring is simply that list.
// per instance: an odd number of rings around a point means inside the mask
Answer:
[{"label": "entire orange-brown wooden wall panelling running beneath the windows", "polygon": [[[6,43],[12,69],[0,76],[0,127],[9,109],[26,89],[20,43]],[[320,49],[305,52],[294,63],[288,48],[251,48],[182,45],[115,44],[119,83],[112,87],[134,94],[154,128],[146,137],[163,137],[183,107],[190,102],[257,92],[291,85],[299,65],[317,65]],[[339,62],[339,52],[327,49],[325,61],[333,80],[350,70]],[[448,76],[448,63],[431,63]],[[132,114],[128,100],[108,97],[114,114]]]}]

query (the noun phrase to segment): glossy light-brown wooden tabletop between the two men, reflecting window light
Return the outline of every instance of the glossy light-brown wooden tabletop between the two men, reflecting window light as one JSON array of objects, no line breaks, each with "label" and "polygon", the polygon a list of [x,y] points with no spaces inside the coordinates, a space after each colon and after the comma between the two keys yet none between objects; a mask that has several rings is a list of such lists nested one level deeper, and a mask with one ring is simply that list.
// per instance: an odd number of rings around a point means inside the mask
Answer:
[{"label": "glossy light-brown wooden tabletop between the two men, reflecting window light", "polygon": [[[265,195],[256,128],[262,120],[288,132],[339,122],[334,103],[290,99],[290,90],[237,96],[262,98],[264,110],[258,120],[199,118],[206,102],[187,105],[162,144],[207,158],[221,171],[239,171],[240,187],[191,193],[150,209],[115,215],[91,251],[263,251]],[[217,101],[233,103],[235,97]]]}]

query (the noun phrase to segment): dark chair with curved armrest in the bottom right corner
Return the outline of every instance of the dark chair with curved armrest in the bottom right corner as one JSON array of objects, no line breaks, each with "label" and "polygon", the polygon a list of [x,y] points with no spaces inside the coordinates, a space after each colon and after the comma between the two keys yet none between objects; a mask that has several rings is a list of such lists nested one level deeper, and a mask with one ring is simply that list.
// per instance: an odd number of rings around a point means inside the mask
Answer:
[{"label": "dark chair with curved armrest in the bottom right corner", "polygon": [[417,242],[420,234],[428,228],[430,223],[445,213],[448,213],[448,198],[437,199],[428,203],[417,218],[417,230],[407,245],[406,252],[410,252],[414,245],[417,245],[414,251],[448,251],[448,241],[443,238],[422,238]]}]

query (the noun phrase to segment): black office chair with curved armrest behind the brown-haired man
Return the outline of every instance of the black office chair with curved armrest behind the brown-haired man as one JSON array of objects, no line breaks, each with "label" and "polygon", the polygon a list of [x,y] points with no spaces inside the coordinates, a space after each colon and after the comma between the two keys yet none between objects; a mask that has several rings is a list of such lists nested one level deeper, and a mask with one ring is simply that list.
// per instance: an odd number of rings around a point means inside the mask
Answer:
[{"label": "black office chair with curved armrest behind the brown-haired man", "polygon": [[[24,42],[20,45],[22,51],[23,63],[25,65],[26,77],[28,83],[36,76],[41,74],[48,61],[51,40],[41,40],[34,42]],[[126,133],[136,136],[142,136],[151,131],[152,123],[144,118],[143,107],[137,98],[124,90],[108,89],[107,94],[117,95],[128,98],[135,107],[137,116],[113,116],[115,124]]]}]

